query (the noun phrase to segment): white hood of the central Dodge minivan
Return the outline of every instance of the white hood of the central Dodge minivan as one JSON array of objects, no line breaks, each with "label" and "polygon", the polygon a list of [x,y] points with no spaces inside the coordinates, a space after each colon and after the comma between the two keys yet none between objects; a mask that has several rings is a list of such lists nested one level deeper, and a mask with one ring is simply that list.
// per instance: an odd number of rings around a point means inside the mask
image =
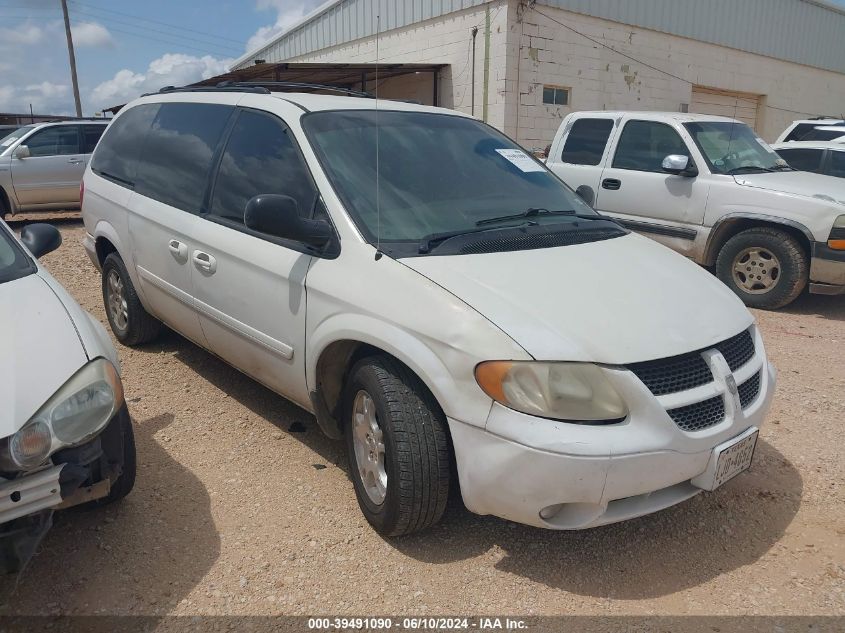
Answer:
[{"label": "white hood of the central Dodge minivan", "polygon": [[705,348],[753,322],[714,276],[637,235],[401,262],[478,310],[537,360],[653,360]]}]

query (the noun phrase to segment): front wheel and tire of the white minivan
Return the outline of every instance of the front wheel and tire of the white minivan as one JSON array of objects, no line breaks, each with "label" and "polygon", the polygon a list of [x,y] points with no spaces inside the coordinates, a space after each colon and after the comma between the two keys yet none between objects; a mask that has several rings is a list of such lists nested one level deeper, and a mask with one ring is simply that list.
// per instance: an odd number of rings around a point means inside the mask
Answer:
[{"label": "front wheel and tire of the white minivan", "polygon": [[[367,396],[376,429],[369,446],[376,455],[383,454],[381,500],[372,471],[365,474],[361,467],[367,456],[356,456],[356,444],[359,451],[364,446],[362,431],[372,430],[362,413]],[[437,523],[449,498],[451,452],[446,418],[422,381],[393,358],[365,358],[347,381],[344,417],[350,477],[367,521],[384,536],[411,534]]]}]

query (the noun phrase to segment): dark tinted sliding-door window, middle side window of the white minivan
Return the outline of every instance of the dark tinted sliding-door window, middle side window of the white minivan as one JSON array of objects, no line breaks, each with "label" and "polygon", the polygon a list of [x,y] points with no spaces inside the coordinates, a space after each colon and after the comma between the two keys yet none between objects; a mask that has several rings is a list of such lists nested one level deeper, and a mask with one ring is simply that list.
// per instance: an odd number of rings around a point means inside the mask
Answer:
[{"label": "dark tinted sliding-door window, middle side window of the white minivan", "polygon": [[213,103],[161,104],[138,161],[135,191],[199,213],[214,152],[232,110]]}]

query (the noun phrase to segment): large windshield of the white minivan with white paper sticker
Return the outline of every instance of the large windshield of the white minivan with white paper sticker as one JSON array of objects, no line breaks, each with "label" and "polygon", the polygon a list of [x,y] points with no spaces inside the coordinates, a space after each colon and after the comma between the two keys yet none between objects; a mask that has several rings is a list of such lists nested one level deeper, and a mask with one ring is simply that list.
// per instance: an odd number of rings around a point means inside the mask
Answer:
[{"label": "large windshield of the white minivan with white paper sticker", "polygon": [[579,216],[601,219],[545,165],[474,119],[344,110],[307,114],[302,121],[371,243],[442,241],[444,235],[521,224],[534,230],[555,224],[559,231]]}]

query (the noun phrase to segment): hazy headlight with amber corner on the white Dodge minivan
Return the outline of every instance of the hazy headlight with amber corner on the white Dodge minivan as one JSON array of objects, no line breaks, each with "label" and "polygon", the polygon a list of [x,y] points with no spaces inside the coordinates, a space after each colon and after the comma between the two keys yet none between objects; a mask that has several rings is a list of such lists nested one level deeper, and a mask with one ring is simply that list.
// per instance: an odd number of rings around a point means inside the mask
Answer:
[{"label": "hazy headlight with amber corner on the white Dodge minivan", "polygon": [[602,370],[589,363],[490,361],[475,379],[496,402],[544,418],[606,423],[628,414]]}]

